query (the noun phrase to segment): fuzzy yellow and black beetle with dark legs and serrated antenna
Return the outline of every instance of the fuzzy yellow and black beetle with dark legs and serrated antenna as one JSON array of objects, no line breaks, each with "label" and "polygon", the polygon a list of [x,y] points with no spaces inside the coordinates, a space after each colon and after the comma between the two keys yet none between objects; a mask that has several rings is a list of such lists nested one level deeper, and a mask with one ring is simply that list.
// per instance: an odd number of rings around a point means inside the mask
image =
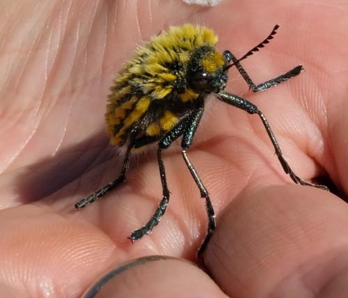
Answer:
[{"label": "fuzzy yellow and black beetle with dark legs and serrated antenna", "polygon": [[214,32],[192,24],[173,26],[168,33],[163,32],[159,36],[152,37],[150,42],[139,48],[132,61],[125,63],[111,87],[109,104],[106,108],[105,118],[111,143],[127,146],[122,171],[116,180],[79,201],[75,207],[77,209],[85,207],[125,180],[132,149],[157,143],[163,198],[148,223],[135,230],[129,238],[135,241],[151,233],[166,212],[170,194],[161,152],[171,146],[173,141],[182,137],[182,157],[200,190],[200,195],[206,202],[208,226],[207,235],[198,250],[198,256],[201,256],[215,228],[214,209],[208,192],[189,161],[186,151],[192,144],[203,115],[205,98],[209,93],[214,93],[219,100],[227,104],[251,114],[258,114],[285,173],[296,183],[327,190],[323,185],[313,185],[295,175],[284,159],[269,123],[254,104],[223,91],[228,81],[227,72],[233,65],[253,92],[264,91],[299,75],[303,70],[301,65],[279,77],[255,85],[240,64],[244,58],[264,47],[273,38],[276,29],[278,25],[265,40],[239,59],[230,51],[222,54],[216,52],[215,45],[218,38]]}]

